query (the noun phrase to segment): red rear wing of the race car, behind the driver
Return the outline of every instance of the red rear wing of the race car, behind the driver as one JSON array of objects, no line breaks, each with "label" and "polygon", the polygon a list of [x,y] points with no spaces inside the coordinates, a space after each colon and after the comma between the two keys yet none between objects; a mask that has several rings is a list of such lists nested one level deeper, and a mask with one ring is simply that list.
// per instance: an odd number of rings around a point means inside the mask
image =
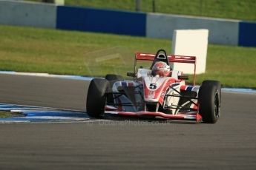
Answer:
[{"label": "red rear wing of the race car, behind the driver", "polygon": [[[136,61],[154,61],[156,54],[140,53],[137,52],[135,55],[135,67]],[[170,63],[184,63],[184,64],[194,64],[194,85],[196,83],[196,68],[197,68],[197,58],[195,56],[185,56],[185,55],[167,55],[168,61]],[[134,71],[135,71],[134,67]]]}]

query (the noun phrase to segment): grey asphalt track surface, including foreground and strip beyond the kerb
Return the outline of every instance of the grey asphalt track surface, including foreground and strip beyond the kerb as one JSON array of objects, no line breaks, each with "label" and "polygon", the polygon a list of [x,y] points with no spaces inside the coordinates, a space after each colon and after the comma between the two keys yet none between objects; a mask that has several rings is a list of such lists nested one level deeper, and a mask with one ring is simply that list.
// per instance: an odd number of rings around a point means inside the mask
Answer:
[{"label": "grey asphalt track surface, including foreground and strip beyond the kerb", "polygon": [[[88,82],[0,75],[0,103],[85,110]],[[256,169],[256,95],[223,92],[216,124],[0,124],[0,169]]]}]

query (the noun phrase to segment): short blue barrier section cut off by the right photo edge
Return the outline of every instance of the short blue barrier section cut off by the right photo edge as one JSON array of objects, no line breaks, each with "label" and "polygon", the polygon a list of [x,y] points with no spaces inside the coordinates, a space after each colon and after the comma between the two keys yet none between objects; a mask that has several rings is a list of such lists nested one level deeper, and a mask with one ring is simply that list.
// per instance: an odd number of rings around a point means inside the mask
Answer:
[{"label": "short blue barrier section cut off by the right photo edge", "polygon": [[239,23],[239,46],[256,47],[256,22]]}]

